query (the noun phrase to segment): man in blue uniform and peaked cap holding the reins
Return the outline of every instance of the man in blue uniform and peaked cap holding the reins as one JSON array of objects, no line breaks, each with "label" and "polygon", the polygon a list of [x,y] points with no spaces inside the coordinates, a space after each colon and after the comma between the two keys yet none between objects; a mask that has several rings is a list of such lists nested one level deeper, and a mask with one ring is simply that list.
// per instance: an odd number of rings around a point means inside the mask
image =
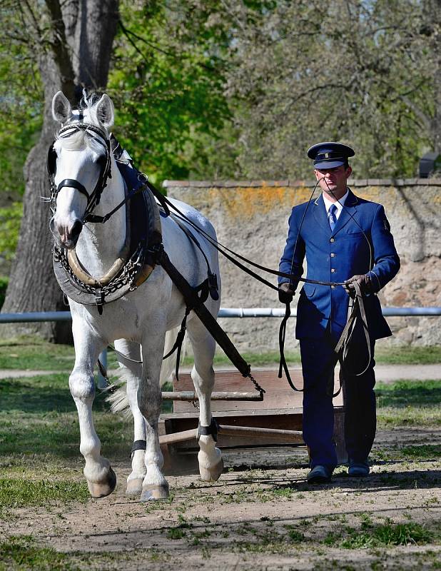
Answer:
[{"label": "man in blue uniform and peaked cap holding the reins", "polygon": [[[303,368],[303,438],[310,450],[310,483],[329,482],[337,465],[329,381],[355,281],[363,293],[371,358],[367,363],[367,341],[363,329],[357,327],[343,368],[350,476],[369,473],[367,457],[376,426],[374,345],[375,339],[392,335],[377,292],[395,276],[400,258],[384,208],[358,198],[347,186],[352,172],[348,158],[354,154],[352,148],[340,143],[318,143],[308,150],[322,193],[315,201],[293,208],[279,266],[281,272],[300,277],[306,258],[307,278],[346,283],[345,287],[305,283],[298,300],[295,337],[300,340]],[[294,278],[279,278],[282,303],[293,299],[297,285]]]}]

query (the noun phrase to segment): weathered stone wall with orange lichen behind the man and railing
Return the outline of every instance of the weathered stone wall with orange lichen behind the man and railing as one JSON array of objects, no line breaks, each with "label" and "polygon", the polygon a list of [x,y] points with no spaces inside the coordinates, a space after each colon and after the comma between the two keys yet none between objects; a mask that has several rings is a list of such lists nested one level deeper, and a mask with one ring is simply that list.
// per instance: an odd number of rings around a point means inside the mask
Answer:
[{"label": "weathered stone wall with orange lichen behind the man and railing", "polygon": [[[390,221],[401,270],[380,293],[383,306],[441,305],[441,180],[351,181],[354,193],[382,203]],[[216,228],[228,248],[270,268],[278,268],[291,208],[308,201],[313,183],[303,181],[166,181],[168,196],[191,204]],[[316,191],[315,196],[318,196]],[[222,307],[281,307],[277,293],[253,280],[220,256]],[[267,276],[268,277],[268,276]],[[276,283],[275,278],[269,276]],[[275,350],[276,318],[223,319],[240,350]],[[394,337],[387,343],[441,343],[440,317],[388,318]],[[293,339],[295,319],[290,320]]]}]

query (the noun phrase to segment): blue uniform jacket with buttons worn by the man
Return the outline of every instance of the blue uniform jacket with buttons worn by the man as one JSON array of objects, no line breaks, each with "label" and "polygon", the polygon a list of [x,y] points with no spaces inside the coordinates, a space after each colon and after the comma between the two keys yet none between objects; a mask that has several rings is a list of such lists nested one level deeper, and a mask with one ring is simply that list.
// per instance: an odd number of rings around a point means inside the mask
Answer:
[{"label": "blue uniform jacket with buttons worn by the man", "polygon": [[[375,293],[400,269],[400,258],[384,208],[381,204],[358,198],[352,191],[348,193],[333,231],[323,196],[309,206],[303,203],[293,208],[279,270],[302,276],[305,258],[307,278],[343,282],[356,274],[370,273]],[[279,278],[278,281],[289,280]],[[375,293],[365,297],[365,310],[370,337],[380,339],[392,333]],[[320,338],[329,320],[331,331],[339,335],[348,318],[349,300],[341,285],[305,283],[298,300],[295,337]]]}]

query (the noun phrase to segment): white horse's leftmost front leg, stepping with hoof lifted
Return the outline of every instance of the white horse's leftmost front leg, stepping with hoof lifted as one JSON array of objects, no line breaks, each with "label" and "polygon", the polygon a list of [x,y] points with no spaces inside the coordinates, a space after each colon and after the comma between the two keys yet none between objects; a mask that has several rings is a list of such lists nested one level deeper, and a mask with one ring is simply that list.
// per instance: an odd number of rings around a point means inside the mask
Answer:
[{"label": "white horse's leftmost front leg, stepping with hoof lifted", "polygon": [[110,463],[100,454],[101,442],[93,426],[92,403],[95,398],[93,365],[105,347],[103,340],[88,330],[87,325],[74,317],[72,325],[75,344],[75,365],[69,377],[69,388],[78,410],[80,452],[86,460],[83,473],[93,497],[111,494],[116,486],[116,475]]}]

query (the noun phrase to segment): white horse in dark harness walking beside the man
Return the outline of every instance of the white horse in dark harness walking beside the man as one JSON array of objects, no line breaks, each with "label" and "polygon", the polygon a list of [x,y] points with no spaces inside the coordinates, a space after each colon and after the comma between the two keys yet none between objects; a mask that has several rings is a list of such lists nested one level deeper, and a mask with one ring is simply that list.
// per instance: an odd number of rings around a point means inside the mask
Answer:
[{"label": "white horse in dark harness walking beside the man", "polygon": [[[85,223],[87,196],[91,195],[110,158],[111,178],[101,194],[93,214],[104,216],[123,201],[124,182],[113,153],[108,153],[109,129],[114,111],[111,99],[104,94],[93,103],[85,97],[78,111],[59,91],[52,101],[54,119],[61,123],[63,136],[53,146],[54,183],[57,188],[56,210],[51,219],[51,232],[56,243],[66,251],[76,251],[83,268],[94,278],[104,276],[118,259],[126,241],[126,208],[119,208],[106,223]],[[75,128],[77,125],[83,128]],[[84,127],[86,124],[86,127]],[[66,126],[72,125],[72,132]],[[88,127],[89,126],[89,127]],[[93,129],[95,127],[95,129]],[[106,151],[107,149],[107,151]],[[216,233],[206,218],[190,206],[174,201],[183,213],[213,238]],[[207,275],[201,251],[188,239],[171,217],[161,217],[163,246],[171,262],[193,286]],[[219,276],[216,250],[203,238],[201,248],[211,269]],[[220,286],[220,284],[219,284]],[[106,458],[101,456],[101,443],[93,426],[92,403],[95,396],[93,368],[99,353],[109,343],[142,365],[121,359],[127,381],[127,397],[134,420],[134,440],[146,440],[146,451],[136,450],[128,476],[127,494],[141,495],[141,501],[168,497],[168,483],[162,473],[163,455],[158,439],[158,417],[161,408],[160,373],[166,345],[166,334],[176,338],[183,320],[186,303],[161,266],[136,290],[118,300],[98,307],[69,299],[75,344],[75,365],[69,387],[78,409],[81,433],[80,451],[86,463],[84,475],[93,497],[110,494],[116,476]],[[217,316],[220,300],[208,297],[206,307]],[[211,392],[214,385],[213,357],[215,341],[199,318],[191,311],[187,322],[188,337],[194,354],[191,373],[200,405],[200,425],[210,427]],[[167,333],[168,332],[168,333]],[[174,337],[173,337],[173,335]],[[203,480],[217,480],[223,470],[220,450],[210,430],[201,430],[198,453]]]}]

